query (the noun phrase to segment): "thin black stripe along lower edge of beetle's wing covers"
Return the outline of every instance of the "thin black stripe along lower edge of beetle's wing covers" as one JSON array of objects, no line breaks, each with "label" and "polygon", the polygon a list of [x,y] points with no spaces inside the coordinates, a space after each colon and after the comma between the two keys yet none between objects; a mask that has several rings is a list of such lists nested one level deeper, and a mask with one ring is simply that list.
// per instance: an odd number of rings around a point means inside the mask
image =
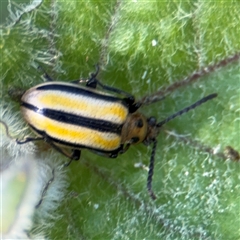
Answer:
[{"label": "thin black stripe along lower edge of beetle's wing covers", "polygon": [[99,148],[94,148],[94,147],[85,146],[85,145],[81,145],[81,144],[76,144],[76,143],[72,143],[72,142],[66,142],[66,141],[63,141],[61,139],[54,138],[54,137],[51,137],[51,136],[47,135],[47,133],[45,131],[40,131],[37,128],[33,127],[31,124],[29,124],[29,126],[30,126],[30,128],[32,128],[32,130],[35,133],[37,133],[40,136],[43,136],[45,142],[52,142],[52,143],[55,143],[55,144],[61,144],[63,146],[70,147],[72,149],[87,148],[87,149],[94,150],[94,151],[97,151],[97,152],[100,152],[100,153],[118,153],[122,149],[122,146],[120,145],[117,149],[114,149],[114,150],[111,150],[111,151],[106,151],[106,150],[99,149]]}]

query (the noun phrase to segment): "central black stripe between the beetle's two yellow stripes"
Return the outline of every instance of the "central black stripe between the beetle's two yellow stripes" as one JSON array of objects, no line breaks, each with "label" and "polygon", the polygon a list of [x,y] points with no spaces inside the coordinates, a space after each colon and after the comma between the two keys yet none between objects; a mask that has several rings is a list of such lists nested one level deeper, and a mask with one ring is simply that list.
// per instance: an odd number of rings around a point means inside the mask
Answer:
[{"label": "central black stripe between the beetle's two yellow stripes", "polygon": [[121,134],[122,125],[120,124],[115,124],[109,121],[98,120],[94,118],[87,118],[87,117],[78,116],[71,113],[66,113],[66,112],[57,111],[57,110],[48,109],[48,108],[39,109],[25,102],[22,102],[22,107],[25,107],[29,110],[32,110],[36,113],[39,113],[47,118],[56,120],[58,122],[86,127],[93,130],[97,130],[99,132],[110,132],[110,133],[116,133],[119,135]]}]

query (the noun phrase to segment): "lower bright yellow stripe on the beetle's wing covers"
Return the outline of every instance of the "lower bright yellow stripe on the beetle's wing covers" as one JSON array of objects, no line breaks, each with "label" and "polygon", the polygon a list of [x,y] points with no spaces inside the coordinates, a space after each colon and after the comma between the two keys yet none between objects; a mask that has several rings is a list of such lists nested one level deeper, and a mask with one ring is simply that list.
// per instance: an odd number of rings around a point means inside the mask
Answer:
[{"label": "lower bright yellow stripe on the beetle's wing covers", "polygon": [[121,144],[121,138],[117,134],[98,132],[86,127],[62,123],[25,108],[23,111],[29,124],[61,141],[105,151],[115,150]]}]

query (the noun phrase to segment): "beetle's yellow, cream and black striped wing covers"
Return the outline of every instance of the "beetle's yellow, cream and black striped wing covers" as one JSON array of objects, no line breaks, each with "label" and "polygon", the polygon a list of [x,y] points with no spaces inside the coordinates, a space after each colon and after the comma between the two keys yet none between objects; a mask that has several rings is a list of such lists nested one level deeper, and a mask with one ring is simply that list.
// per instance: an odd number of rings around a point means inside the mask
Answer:
[{"label": "beetle's yellow, cream and black striped wing covers", "polygon": [[[77,84],[48,82],[26,91],[21,101],[34,132],[60,147],[88,148],[115,157],[123,143],[132,141],[121,135],[130,113],[127,99]],[[146,135],[146,127],[140,130]]]}]

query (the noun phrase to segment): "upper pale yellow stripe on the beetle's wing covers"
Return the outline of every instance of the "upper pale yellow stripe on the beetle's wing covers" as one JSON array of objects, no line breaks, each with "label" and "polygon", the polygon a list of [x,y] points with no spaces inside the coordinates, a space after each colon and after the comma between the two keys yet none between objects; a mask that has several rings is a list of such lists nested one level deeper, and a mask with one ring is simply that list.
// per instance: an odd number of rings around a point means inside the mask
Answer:
[{"label": "upper pale yellow stripe on the beetle's wing covers", "polygon": [[127,117],[128,110],[120,102],[107,102],[82,95],[65,92],[40,92],[34,103],[45,108],[62,110],[89,118],[101,119],[122,124]]}]

